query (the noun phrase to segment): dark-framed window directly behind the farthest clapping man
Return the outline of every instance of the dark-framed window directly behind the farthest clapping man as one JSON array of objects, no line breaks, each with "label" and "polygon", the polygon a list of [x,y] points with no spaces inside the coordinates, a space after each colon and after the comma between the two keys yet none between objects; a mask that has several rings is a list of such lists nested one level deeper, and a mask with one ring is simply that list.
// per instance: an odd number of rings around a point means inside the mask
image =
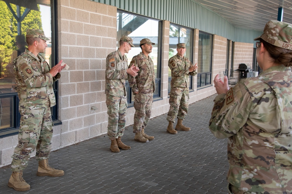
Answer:
[{"label": "dark-framed window directly behind the farthest clapping man", "polygon": [[[170,24],[169,27],[169,56],[171,58],[175,56],[178,52],[176,51],[176,44],[185,43],[186,51],[185,57],[189,58],[190,61],[193,59],[193,30],[186,28],[184,26],[178,26],[175,24]],[[168,93],[170,92],[170,83],[171,83],[171,70],[168,67]],[[192,89],[192,76],[190,76],[190,85],[189,89]]]}]

